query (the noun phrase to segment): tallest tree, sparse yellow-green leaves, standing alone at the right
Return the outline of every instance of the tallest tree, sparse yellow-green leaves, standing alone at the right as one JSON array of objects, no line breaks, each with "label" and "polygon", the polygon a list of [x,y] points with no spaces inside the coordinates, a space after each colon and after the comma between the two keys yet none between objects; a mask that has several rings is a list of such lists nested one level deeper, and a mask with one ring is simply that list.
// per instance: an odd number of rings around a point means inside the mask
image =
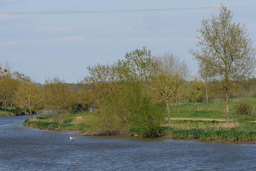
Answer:
[{"label": "tallest tree, sparse yellow-green leaves, standing alone at the right", "polygon": [[197,36],[201,52],[190,53],[202,66],[208,66],[211,78],[221,83],[225,93],[226,121],[229,122],[229,93],[236,84],[254,72],[256,50],[246,26],[232,22],[233,14],[222,5],[219,16],[203,19]]}]

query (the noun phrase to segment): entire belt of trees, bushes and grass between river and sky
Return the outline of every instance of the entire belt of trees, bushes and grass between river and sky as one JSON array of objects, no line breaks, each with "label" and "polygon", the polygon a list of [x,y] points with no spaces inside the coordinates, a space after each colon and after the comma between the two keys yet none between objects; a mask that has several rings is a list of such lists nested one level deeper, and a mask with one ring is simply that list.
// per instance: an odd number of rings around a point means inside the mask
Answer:
[{"label": "entire belt of trees, bushes and grass between river and sky", "polygon": [[[152,56],[143,47],[113,64],[88,66],[88,76],[78,84],[66,84],[56,76],[40,85],[8,67],[0,68],[2,106],[5,111],[14,106],[30,113],[24,125],[86,135],[255,140],[255,125],[249,121],[255,120],[256,78],[250,77],[256,50],[245,25],[232,23],[232,17],[222,5],[218,17],[202,20],[197,37],[201,51],[190,53],[199,62],[204,82],[192,78],[188,64],[179,57],[170,52]],[[84,112],[90,107],[96,112]],[[33,118],[33,111],[42,108],[53,116]],[[174,118],[226,119],[226,123],[171,121]]]}]

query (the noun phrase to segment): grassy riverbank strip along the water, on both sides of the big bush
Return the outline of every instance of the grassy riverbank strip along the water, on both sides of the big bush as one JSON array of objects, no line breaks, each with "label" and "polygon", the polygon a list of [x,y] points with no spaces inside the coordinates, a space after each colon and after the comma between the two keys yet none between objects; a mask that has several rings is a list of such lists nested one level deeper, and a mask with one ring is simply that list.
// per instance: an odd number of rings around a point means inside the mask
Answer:
[{"label": "grassy riverbank strip along the water, on both sides of the big bush", "polygon": [[[40,129],[60,131],[79,131],[81,135],[135,135],[143,137],[141,127],[132,127],[122,132],[104,133],[91,129],[86,125],[86,118],[92,113],[64,115],[63,123],[56,123],[52,116],[38,116],[36,119],[26,119],[24,126]],[[219,121],[194,121],[172,120],[172,125],[162,125],[159,137],[172,137],[173,139],[199,139],[202,141],[224,142],[255,142],[256,123],[248,121],[219,122]]]}]

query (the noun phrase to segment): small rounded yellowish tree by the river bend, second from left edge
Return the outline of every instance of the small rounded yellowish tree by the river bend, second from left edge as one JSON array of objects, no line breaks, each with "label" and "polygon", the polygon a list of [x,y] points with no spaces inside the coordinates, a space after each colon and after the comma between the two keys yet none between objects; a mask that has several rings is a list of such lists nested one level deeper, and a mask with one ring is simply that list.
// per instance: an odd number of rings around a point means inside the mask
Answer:
[{"label": "small rounded yellowish tree by the river bend, second from left edge", "polygon": [[33,82],[20,82],[16,91],[16,104],[24,106],[29,110],[32,118],[32,111],[42,107],[44,97],[40,87]]}]

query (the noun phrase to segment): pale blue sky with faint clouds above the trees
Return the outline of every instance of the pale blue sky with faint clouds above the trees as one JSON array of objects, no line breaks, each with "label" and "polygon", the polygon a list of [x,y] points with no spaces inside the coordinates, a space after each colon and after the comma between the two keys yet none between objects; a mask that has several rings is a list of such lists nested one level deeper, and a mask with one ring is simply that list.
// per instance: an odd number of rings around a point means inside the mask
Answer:
[{"label": "pale blue sky with faint clouds above the trees", "polygon": [[[144,10],[256,5],[256,0],[0,0],[4,12]],[[256,8],[232,8],[233,22],[245,23],[256,47]],[[219,9],[93,14],[0,15],[0,63],[44,83],[58,76],[77,83],[86,67],[124,60],[146,46],[153,56],[165,51],[185,60],[191,74],[198,64],[188,52],[198,49],[197,29]]]}]

